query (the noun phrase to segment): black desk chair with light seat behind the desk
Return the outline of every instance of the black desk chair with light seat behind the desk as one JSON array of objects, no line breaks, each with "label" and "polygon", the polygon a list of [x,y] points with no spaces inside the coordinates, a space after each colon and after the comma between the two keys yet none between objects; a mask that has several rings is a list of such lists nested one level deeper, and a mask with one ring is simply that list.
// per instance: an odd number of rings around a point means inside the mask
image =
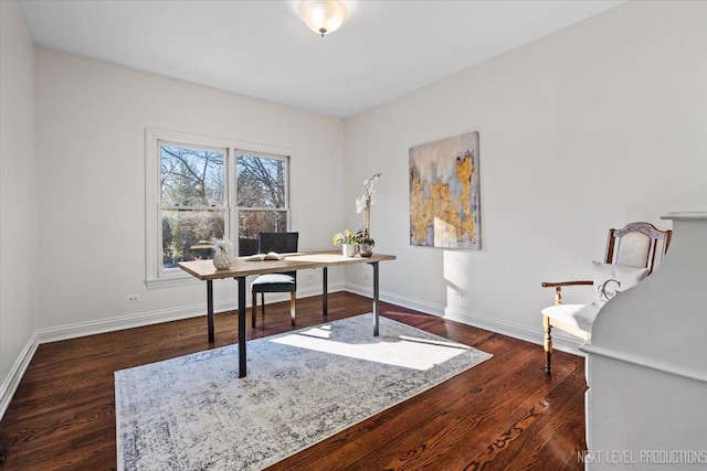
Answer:
[{"label": "black desk chair with light seat behind the desk", "polygon": [[[261,254],[276,251],[287,254],[297,251],[299,233],[260,233],[258,249]],[[286,271],[283,274],[261,275],[251,285],[253,292],[253,306],[251,312],[251,325],[255,328],[255,311],[257,309],[257,293],[261,293],[261,310],[265,318],[265,293],[266,292],[289,292],[289,318],[292,325],[295,325],[295,304],[297,300],[297,271]]]}]

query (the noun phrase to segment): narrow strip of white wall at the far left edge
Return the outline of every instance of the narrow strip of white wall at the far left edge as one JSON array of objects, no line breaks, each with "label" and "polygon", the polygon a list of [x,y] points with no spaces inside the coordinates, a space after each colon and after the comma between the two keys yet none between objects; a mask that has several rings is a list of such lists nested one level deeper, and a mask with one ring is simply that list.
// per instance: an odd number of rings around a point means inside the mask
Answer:
[{"label": "narrow strip of white wall at the far left edge", "polygon": [[17,1],[0,2],[0,417],[36,328],[34,43]]}]

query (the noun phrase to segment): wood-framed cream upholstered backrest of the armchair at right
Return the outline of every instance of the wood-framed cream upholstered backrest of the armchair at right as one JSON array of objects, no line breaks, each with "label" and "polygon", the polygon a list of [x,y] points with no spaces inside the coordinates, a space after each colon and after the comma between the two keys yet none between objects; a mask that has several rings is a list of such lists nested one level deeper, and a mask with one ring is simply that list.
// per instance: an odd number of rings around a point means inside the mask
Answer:
[{"label": "wood-framed cream upholstered backrest of the armchair at right", "polygon": [[659,231],[650,223],[630,223],[620,229],[609,229],[604,263],[622,267],[657,267],[668,246],[673,231]]}]

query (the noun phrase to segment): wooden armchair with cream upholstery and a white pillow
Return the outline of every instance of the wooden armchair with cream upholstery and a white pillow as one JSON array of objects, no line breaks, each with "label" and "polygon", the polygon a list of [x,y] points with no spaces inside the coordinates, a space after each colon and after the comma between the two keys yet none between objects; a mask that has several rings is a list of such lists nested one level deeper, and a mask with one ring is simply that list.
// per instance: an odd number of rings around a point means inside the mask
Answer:
[{"label": "wooden armchair with cream upholstery and a white pillow", "polygon": [[[609,229],[604,263],[594,261],[594,280],[544,282],[555,288],[555,306],[544,309],[545,371],[552,372],[552,328],[588,341],[591,328],[604,302],[616,292],[631,288],[648,276],[663,260],[671,244],[672,231],[659,231],[650,223],[630,223]],[[593,285],[597,291],[590,304],[562,304],[562,287]]]}]

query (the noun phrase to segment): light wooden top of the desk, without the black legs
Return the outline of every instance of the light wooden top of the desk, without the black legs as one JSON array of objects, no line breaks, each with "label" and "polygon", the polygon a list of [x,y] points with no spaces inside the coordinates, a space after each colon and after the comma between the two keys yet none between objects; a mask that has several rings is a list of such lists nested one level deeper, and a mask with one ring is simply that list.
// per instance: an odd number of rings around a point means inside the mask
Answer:
[{"label": "light wooden top of the desk, without the black legs", "polygon": [[345,257],[341,250],[299,251],[284,255],[282,260],[245,261],[247,257],[233,258],[231,268],[217,270],[212,260],[180,261],[179,268],[200,280],[246,277],[249,275],[277,274],[307,268],[333,267],[336,265],[371,264],[394,260],[394,255],[373,254],[370,257]]}]

